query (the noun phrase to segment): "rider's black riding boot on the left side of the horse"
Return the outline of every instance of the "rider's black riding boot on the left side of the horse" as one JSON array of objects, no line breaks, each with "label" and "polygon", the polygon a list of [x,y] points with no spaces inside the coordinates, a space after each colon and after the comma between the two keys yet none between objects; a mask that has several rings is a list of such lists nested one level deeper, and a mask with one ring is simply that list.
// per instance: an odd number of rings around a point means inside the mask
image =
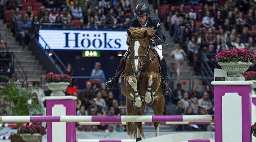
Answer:
[{"label": "rider's black riding boot on the left side of the horse", "polygon": [[123,56],[119,62],[119,65],[116,69],[115,75],[113,78],[110,78],[109,80],[107,80],[105,82],[105,85],[107,88],[109,88],[110,90],[113,90],[114,87],[118,84],[119,81],[119,77],[122,74],[123,67],[124,67],[124,61],[125,61],[125,56]]}]

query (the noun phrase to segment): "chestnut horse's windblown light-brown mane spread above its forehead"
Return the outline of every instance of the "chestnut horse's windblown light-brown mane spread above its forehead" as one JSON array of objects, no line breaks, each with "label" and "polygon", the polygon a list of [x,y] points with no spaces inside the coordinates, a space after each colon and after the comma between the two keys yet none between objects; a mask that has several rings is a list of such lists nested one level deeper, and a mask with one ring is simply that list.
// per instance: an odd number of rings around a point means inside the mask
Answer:
[{"label": "chestnut horse's windblown light-brown mane spread above its forehead", "polygon": [[[133,34],[142,35],[145,32],[145,30],[147,30],[147,35],[150,37],[154,36],[154,34],[156,33],[156,30],[154,27],[146,27],[146,28],[130,27],[128,30],[132,33],[132,35]],[[133,37],[128,36],[128,40],[130,40],[131,38],[133,38]]]}]

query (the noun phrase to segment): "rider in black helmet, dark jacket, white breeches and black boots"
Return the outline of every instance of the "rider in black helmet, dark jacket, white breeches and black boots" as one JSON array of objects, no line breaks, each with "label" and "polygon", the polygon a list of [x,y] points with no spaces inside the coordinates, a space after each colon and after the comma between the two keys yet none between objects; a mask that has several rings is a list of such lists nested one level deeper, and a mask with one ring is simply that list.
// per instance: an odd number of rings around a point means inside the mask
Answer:
[{"label": "rider in black helmet, dark jacket, white breeches and black boots", "polygon": [[[162,54],[162,44],[164,43],[162,28],[161,28],[159,19],[149,16],[149,14],[150,14],[150,10],[147,4],[138,4],[136,6],[135,13],[134,13],[134,15],[137,16],[137,18],[134,18],[131,20],[129,27],[137,27],[137,28],[138,27],[154,27],[156,29],[156,33],[154,35],[155,40],[151,41],[150,47],[152,49],[155,49],[156,52],[158,53],[158,56],[160,57],[161,64],[162,64],[161,70],[164,77],[163,94],[168,95],[172,91],[167,81],[167,78],[168,78],[167,65]],[[127,41],[127,45],[129,46],[128,41]],[[115,76],[105,82],[106,87],[108,87],[111,90],[114,89],[114,87],[118,84],[119,77],[122,73],[121,70],[123,70],[123,66],[125,62],[125,56],[126,54],[124,54],[124,56],[120,60]]]}]

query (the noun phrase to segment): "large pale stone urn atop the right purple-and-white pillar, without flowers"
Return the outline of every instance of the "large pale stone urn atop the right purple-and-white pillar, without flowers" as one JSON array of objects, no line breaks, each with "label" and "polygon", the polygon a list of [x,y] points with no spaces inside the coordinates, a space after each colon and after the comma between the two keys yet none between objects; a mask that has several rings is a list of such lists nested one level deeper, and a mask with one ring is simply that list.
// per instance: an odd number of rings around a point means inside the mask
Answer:
[{"label": "large pale stone urn atop the right purple-and-white pillar, without flowers", "polygon": [[252,65],[251,62],[218,62],[221,68],[228,73],[225,81],[245,81],[242,73]]}]

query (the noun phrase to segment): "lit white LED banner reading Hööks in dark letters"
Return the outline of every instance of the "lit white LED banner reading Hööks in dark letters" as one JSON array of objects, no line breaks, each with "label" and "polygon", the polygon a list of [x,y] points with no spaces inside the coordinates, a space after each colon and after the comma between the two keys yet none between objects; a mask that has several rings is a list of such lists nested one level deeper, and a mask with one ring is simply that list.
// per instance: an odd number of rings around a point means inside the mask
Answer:
[{"label": "lit white LED banner reading H\u00f6\u00f6ks in dark letters", "polygon": [[43,48],[46,42],[51,49],[60,50],[128,49],[126,31],[39,29],[39,35],[43,38],[39,37],[39,43]]}]

